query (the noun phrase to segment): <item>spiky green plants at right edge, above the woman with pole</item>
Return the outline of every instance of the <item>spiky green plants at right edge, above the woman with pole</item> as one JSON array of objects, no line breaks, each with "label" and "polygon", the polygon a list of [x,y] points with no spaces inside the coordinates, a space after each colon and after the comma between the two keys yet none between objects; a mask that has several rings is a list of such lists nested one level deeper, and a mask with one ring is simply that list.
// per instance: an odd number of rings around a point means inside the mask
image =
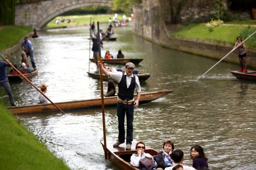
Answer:
[{"label": "spiky green plants at right edge, above the woman with pole", "polygon": [[[245,40],[247,37],[252,35],[253,32],[256,32],[256,28],[248,26],[246,29],[243,29],[240,32],[240,36],[243,40]],[[256,33],[246,40],[246,46],[256,48]]]}]

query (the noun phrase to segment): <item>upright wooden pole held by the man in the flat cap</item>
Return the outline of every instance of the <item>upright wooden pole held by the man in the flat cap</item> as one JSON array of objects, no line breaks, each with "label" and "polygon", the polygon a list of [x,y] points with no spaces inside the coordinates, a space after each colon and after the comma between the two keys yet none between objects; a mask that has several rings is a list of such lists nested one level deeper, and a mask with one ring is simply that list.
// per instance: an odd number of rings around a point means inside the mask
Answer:
[{"label": "upright wooden pole held by the man in the flat cap", "polygon": [[[100,46],[100,32],[99,32],[99,22],[97,22],[98,26],[98,52],[99,52],[99,62],[102,63],[102,55],[101,55],[101,46]],[[104,110],[104,94],[103,94],[103,76],[102,76],[102,67],[99,67],[99,74],[100,74],[100,91],[102,97],[102,122],[103,122],[103,136],[104,136],[104,153],[105,159],[107,157],[107,140],[106,140],[106,125],[105,125],[105,110]]]}]

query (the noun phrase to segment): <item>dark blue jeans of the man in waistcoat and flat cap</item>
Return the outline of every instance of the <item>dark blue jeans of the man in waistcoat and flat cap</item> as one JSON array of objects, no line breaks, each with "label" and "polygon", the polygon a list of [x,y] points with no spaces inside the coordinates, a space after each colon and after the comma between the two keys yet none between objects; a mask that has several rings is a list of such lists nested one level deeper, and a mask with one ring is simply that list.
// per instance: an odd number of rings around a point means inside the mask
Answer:
[{"label": "dark blue jeans of the man in waistcoat and flat cap", "polygon": [[117,103],[117,117],[118,117],[118,141],[123,143],[125,141],[125,112],[127,120],[127,134],[126,144],[131,144],[133,140],[133,112],[134,103],[131,105],[124,105]]}]

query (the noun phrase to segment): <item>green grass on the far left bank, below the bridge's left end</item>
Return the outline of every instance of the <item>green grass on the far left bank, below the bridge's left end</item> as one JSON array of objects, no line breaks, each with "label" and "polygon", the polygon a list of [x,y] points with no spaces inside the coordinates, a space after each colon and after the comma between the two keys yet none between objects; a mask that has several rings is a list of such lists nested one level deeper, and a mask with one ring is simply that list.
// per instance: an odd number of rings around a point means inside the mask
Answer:
[{"label": "green grass on the far left bank, below the bridge's left end", "polygon": [[0,51],[18,44],[31,31],[32,28],[25,26],[6,26],[0,29]]}]

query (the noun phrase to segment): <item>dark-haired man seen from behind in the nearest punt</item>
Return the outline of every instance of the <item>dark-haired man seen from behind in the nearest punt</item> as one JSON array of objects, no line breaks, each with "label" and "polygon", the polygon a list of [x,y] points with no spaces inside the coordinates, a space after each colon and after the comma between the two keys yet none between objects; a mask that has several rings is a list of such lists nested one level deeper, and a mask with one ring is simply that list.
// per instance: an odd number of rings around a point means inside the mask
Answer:
[{"label": "dark-haired man seen from behind in the nearest punt", "polygon": [[172,153],[171,153],[171,157],[174,160],[174,164],[172,164],[171,167],[167,167],[164,170],[173,170],[173,168],[176,165],[181,165],[183,167],[184,170],[196,170],[193,167],[189,167],[186,164],[183,164],[184,161],[184,153],[183,151],[181,151],[180,149],[175,149]]}]

